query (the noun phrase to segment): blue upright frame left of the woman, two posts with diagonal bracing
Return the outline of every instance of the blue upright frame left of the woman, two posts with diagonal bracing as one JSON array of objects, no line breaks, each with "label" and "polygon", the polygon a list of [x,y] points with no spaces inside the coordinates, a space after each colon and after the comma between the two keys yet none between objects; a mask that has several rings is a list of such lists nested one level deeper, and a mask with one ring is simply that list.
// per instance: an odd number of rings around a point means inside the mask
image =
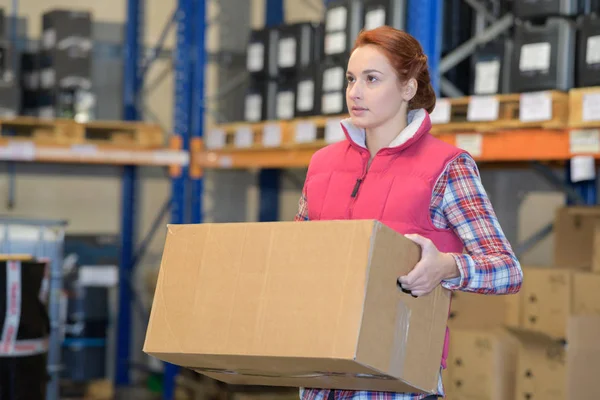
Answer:
[{"label": "blue upright frame left of the woman, two posts with diagonal bracing", "polygon": [[[160,53],[171,20],[161,35],[159,44],[150,59],[144,61],[143,9],[144,0],[127,0],[127,22],[125,29],[125,57],[123,75],[123,118],[142,118],[140,105],[144,75],[150,64]],[[175,49],[175,107],[173,137],[181,149],[189,151],[200,145],[204,125],[204,71],[206,0],[178,0],[174,13],[177,23]],[[171,170],[172,198],[170,201],[173,223],[202,222],[202,173],[197,168],[184,166]],[[131,359],[131,277],[139,254],[134,253],[136,227],[136,169],[127,166],[123,175],[123,199],[121,222],[121,260],[119,289],[119,318],[117,335],[117,357],[115,368],[116,386],[130,384],[129,365]],[[158,226],[158,224],[155,224]],[[151,233],[152,234],[152,233]],[[151,235],[150,234],[150,235]],[[146,242],[146,241],[144,241]],[[143,243],[145,244],[145,243]],[[143,247],[143,246],[142,246]],[[163,398],[172,399],[175,391],[177,368],[167,364],[164,372]]]}]

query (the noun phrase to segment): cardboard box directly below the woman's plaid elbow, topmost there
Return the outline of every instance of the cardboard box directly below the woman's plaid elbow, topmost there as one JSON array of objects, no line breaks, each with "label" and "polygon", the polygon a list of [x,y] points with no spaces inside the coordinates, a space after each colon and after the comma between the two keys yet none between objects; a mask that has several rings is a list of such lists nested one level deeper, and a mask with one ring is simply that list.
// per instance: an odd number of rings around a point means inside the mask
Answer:
[{"label": "cardboard box directly below the woman's plaid elbow, topmost there", "polygon": [[[509,299],[509,297],[511,299]],[[495,329],[504,326],[510,316],[509,302],[516,295],[481,295],[453,292],[448,326],[455,329]]]}]

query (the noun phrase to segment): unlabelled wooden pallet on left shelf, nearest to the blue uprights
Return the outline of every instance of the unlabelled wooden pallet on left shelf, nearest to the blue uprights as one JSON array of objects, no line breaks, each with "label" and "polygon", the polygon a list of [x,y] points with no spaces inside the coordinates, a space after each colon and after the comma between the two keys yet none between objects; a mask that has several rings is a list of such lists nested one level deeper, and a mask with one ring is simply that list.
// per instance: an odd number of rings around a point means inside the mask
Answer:
[{"label": "unlabelled wooden pallet on left shelf, nearest to the blue uprights", "polygon": [[74,144],[96,144],[120,148],[158,149],[165,145],[164,133],[155,124],[127,121],[93,121],[74,125]]}]

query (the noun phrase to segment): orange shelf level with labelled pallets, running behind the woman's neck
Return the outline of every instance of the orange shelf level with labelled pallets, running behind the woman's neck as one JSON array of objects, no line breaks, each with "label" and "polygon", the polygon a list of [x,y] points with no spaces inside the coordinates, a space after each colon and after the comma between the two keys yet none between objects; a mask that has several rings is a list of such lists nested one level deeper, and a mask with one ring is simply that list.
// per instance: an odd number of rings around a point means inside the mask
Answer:
[{"label": "orange shelf level with labelled pallets, running behind the woman's neck", "polygon": [[[600,157],[600,88],[439,99],[431,132],[479,162]],[[215,126],[193,164],[201,168],[306,167],[314,152],[343,139],[347,115]]]}]

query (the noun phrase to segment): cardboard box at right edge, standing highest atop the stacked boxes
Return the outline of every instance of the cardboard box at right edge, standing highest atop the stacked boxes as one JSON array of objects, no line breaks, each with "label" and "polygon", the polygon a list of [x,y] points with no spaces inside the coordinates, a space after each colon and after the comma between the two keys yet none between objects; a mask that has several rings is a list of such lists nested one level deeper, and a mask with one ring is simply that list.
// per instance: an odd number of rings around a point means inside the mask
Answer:
[{"label": "cardboard box at right edge, standing highest atop the stacked boxes", "polygon": [[556,212],[554,265],[600,273],[600,207],[564,207]]}]

